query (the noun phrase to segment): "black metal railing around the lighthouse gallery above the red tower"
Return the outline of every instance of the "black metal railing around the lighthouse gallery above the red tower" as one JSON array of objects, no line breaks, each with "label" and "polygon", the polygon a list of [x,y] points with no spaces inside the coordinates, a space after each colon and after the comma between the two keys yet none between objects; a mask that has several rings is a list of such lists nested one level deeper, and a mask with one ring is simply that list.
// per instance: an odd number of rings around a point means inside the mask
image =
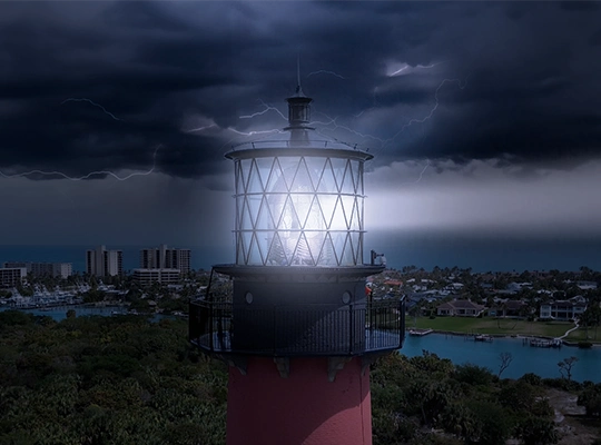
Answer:
[{"label": "black metal railing around the lighthouse gallery above the red tower", "polygon": [[189,340],[208,353],[269,356],[363,355],[398,349],[404,300],[331,305],[235,306],[195,300]]}]

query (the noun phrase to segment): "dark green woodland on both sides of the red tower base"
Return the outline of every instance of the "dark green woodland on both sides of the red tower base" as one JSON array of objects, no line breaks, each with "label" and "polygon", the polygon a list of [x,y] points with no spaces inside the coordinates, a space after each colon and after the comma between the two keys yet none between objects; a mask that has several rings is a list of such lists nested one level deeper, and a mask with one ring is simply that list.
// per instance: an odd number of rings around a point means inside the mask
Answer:
[{"label": "dark green woodland on both sides of the red tower base", "polygon": [[[601,416],[601,384],[386,356],[372,368],[373,442],[553,444],[550,385]],[[0,444],[224,444],[226,399],[226,365],[187,343],[186,322],[0,313]]]}]

